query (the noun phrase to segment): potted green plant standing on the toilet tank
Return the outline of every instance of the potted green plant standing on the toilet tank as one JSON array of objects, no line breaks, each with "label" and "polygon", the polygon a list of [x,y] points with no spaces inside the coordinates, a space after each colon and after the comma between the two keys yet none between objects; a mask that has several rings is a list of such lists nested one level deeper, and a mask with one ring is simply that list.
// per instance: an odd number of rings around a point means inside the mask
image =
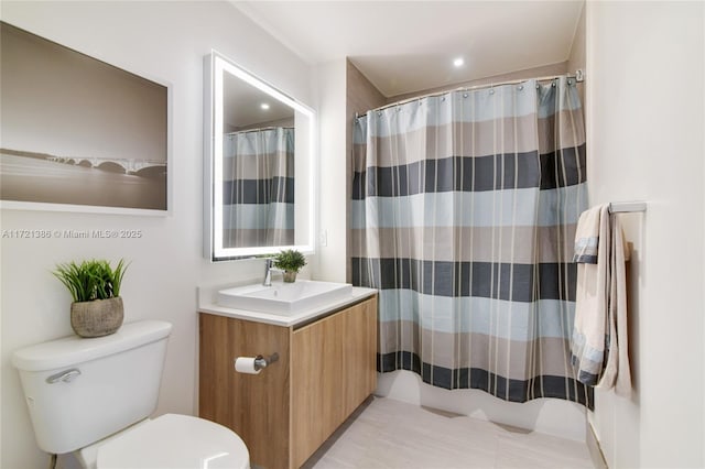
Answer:
[{"label": "potted green plant standing on the toilet tank", "polygon": [[115,269],[105,260],[56,265],[53,274],[68,288],[74,301],[70,327],[78,336],[108,336],[122,326],[124,308],[120,285],[126,269],[122,259]]}]

